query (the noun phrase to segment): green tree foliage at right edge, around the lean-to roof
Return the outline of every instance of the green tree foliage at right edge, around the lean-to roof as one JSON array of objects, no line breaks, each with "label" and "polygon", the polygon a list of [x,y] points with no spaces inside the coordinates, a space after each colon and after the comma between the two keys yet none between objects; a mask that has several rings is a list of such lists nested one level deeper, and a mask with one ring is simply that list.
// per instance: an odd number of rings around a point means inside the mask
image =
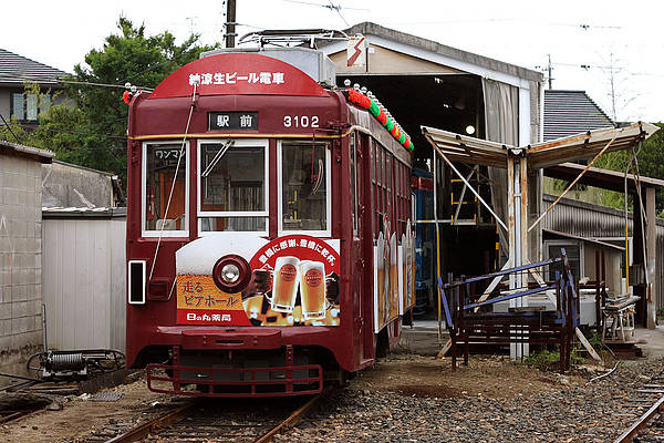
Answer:
[{"label": "green tree foliage at right edge, around the lean-to roof", "polygon": [[[643,142],[636,159],[639,163],[639,175],[664,179],[664,123],[656,123],[656,125],[660,127],[660,131]],[[598,159],[596,166],[624,173],[631,156],[632,152],[627,151],[604,154]],[[632,171],[630,169],[629,173],[632,173]],[[622,209],[624,207],[623,195],[604,193],[602,195],[602,204]],[[656,190],[655,206],[657,214],[664,212],[664,189]]]}]

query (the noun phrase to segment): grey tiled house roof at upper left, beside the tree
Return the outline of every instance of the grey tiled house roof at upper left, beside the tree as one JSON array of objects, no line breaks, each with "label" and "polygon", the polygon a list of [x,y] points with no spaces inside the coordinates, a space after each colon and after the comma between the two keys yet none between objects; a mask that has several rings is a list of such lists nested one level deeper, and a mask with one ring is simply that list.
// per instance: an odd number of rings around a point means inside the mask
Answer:
[{"label": "grey tiled house roof at upper left, beside the tree", "polygon": [[58,78],[66,72],[35,62],[0,48],[0,84],[22,85],[25,80],[41,85],[58,85]]}]

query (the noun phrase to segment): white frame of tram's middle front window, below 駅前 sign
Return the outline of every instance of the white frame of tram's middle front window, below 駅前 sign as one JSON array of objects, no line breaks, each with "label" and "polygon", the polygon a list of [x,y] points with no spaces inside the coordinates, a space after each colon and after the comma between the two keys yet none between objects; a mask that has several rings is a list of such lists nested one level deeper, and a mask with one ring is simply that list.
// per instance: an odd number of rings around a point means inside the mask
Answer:
[{"label": "white frame of tram's middle front window, below \u99c5\u524d sign", "polygon": [[[200,207],[200,197],[203,195],[203,177],[200,174],[204,168],[201,165],[201,153],[204,146],[206,144],[216,144],[224,143],[226,141],[234,141],[234,145],[230,147],[232,150],[236,146],[246,146],[246,147],[262,147],[264,152],[264,189],[263,189],[263,202],[264,202],[264,210],[201,210]],[[256,235],[268,235],[270,229],[270,141],[268,138],[209,138],[209,140],[199,140],[196,150],[196,164],[198,166],[196,172],[196,184],[198,186],[198,192],[196,193],[196,223],[198,226],[198,235],[200,237],[209,236],[209,235],[219,235],[219,234],[228,234],[228,233],[250,233]],[[203,218],[206,217],[263,217],[266,219],[266,229],[264,230],[203,230]]]}]

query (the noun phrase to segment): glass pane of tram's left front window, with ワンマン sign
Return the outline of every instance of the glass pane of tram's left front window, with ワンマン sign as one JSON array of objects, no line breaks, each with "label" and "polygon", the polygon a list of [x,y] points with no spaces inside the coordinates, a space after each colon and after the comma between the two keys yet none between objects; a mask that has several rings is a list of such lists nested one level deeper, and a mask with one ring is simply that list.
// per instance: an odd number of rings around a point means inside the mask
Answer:
[{"label": "glass pane of tram's left front window, with \u30ef\u30f3\u30de\u30f3 sign", "polygon": [[145,145],[145,230],[187,230],[186,153],[179,143]]}]

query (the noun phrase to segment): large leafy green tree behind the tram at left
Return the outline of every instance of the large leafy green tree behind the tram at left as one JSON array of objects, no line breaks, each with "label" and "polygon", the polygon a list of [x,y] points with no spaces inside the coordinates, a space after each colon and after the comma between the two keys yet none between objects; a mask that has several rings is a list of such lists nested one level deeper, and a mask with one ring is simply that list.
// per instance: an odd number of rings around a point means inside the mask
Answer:
[{"label": "large leafy green tree behind the tram at left", "polygon": [[[181,44],[164,31],[146,35],[145,25],[135,27],[121,17],[118,33],[105,39],[101,50],[85,56],[87,66],[76,64],[68,81],[155,87],[173,71],[199,58],[200,52],[218,47],[199,44],[191,34]],[[126,177],[126,127],[128,106],[122,100],[122,87],[65,84],[74,105],[51,106],[40,116],[40,125],[30,142],[54,151],[59,159]]]}]

